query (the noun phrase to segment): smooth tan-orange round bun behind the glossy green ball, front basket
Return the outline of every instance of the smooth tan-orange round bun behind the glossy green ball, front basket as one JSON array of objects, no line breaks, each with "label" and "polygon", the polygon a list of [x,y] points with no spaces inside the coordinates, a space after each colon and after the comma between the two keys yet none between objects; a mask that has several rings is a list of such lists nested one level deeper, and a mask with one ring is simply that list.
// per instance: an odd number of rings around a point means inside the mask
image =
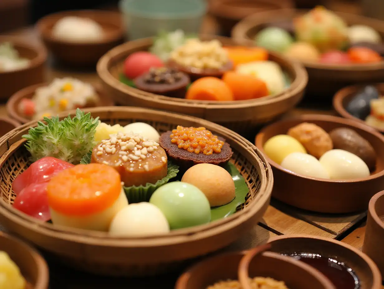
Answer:
[{"label": "smooth tan-orange round bun behind the glossy green ball, front basket", "polygon": [[184,173],[181,181],[199,188],[211,207],[225,205],[235,198],[235,183],[230,173],[218,165],[194,165]]}]

